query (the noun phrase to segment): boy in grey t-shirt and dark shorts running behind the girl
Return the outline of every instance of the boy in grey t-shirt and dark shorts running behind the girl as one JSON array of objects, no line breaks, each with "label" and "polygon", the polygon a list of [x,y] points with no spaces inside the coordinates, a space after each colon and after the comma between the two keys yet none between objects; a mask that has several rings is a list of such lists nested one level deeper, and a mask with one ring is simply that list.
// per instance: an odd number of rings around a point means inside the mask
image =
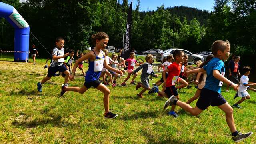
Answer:
[{"label": "boy in grey t-shirt and dark shorts running behind the girl", "polygon": [[44,84],[47,80],[50,80],[52,76],[55,75],[56,72],[63,72],[65,74],[64,85],[68,84],[68,77],[70,72],[63,64],[64,58],[69,55],[69,53],[64,54],[64,39],[61,37],[56,38],[55,44],[56,47],[52,50],[52,63],[48,68],[48,74],[46,77],[43,78],[41,82],[37,83],[37,90],[38,92],[42,92],[42,84]]}]

